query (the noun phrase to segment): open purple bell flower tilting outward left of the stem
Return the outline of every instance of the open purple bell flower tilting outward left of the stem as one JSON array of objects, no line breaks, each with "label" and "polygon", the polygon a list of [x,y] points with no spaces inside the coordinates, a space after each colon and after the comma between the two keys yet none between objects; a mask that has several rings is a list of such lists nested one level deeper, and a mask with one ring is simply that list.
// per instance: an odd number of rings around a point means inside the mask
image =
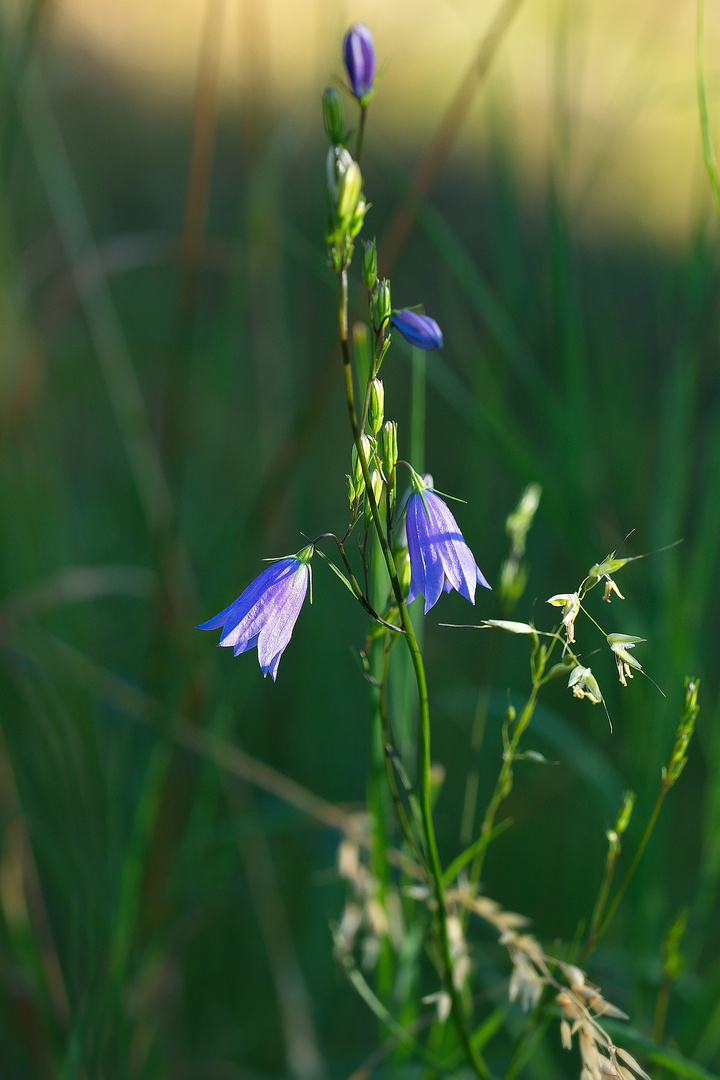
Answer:
[{"label": "open purple bell flower tilting outward left of the stem", "polygon": [[236,600],[195,629],[221,626],[218,645],[232,647],[236,657],[257,646],[262,674],[270,672],[274,681],[308,592],[312,554],[312,546],[303,548],[272,563]]}]

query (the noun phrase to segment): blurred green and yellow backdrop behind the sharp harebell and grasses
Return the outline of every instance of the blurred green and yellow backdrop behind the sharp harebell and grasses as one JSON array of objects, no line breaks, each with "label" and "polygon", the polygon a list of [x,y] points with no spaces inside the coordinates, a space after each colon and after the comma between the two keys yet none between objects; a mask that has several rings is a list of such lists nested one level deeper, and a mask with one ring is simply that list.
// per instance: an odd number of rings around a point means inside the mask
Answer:
[{"label": "blurred green and yellow backdrop behind the sharp harebell and grasses", "polygon": [[[720,264],[694,5],[520,3],[407,243],[383,255],[494,13],[0,4],[2,1076],[332,1080],[378,1042],[328,929],[343,903],[330,804],[362,807],[369,761],[362,612],[318,563],[276,686],[254,653],[192,630],[261,558],[344,528],[320,95],[353,19],[384,65],[368,232],[394,302],[444,328],[425,467],[467,500],[457,516],[485,573],[498,581],[530,481],[543,499],[517,618],[549,626],[545,598],[633,529],[624,554],[683,541],[628,567],[627,599],[601,612],[648,638],[640,660],[667,697],[640,677],[621,692],[599,657],[611,735],[552,688],[526,742],[558,764],[518,765],[516,827],[485,889],[543,941],[571,939],[620,795],[638,793],[631,850],[683,677],[699,676],[689,768],[589,974],[650,1032],[663,943],[689,907],[667,1041],[720,1071]],[[716,117],[719,48],[709,5]],[[383,377],[407,446],[402,342]],[[495,605],[483,595],[472,619]],[[508,693],[528,690],[521,639],[490,667],[489,637],[437,625],[467,620],[453,594],[425,623],[446,860],[478,693],[481,797]],[[493,948],[478,946],[481,978],[506,977]],[[578,1072],[553,1028],[524,1075]]]}]

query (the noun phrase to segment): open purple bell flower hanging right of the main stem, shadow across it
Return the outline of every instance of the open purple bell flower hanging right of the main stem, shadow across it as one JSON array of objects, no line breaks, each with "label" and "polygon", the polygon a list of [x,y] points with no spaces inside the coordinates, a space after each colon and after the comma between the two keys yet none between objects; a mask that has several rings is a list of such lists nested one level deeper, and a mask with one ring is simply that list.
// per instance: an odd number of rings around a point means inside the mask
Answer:
[{"label": "open purple bell flower hanging right of the main stem, shadow across it", "polygon": [[426,615],[443,590],[449,593],[451,589],[474,604],[477,582],[485,589],[490,585],[445,502],[430,488],[419,489],[420,484],[420,477],[413,477],[415,490],[405,512],[410,556],[408,604],[422,593]]}]

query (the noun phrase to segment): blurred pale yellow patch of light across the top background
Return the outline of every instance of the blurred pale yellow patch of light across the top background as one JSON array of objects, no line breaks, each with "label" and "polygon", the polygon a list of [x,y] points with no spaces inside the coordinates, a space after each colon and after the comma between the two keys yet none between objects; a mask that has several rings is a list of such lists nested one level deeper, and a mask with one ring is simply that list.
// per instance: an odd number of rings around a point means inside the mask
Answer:
[{"label": "blurred pale yellow patch of light across the top background", "polygon": [[[56,0],[52,44],[86,52],[135,94],[189,106],[208,10],[222,18],[226,105],[262,97],[318,124],[339,41],[370,26],[382,66],[378,137],[419,150],[452,97],[497,0]],[[705,65],[720,131],[720,3],[706,2]],[[52,48],[51,44],[51,48]],[[558,163],[579,227],[688,238],[707,212],[692,0],[525,0],[454,154],[478,171],[501,137],[529,191]]]}]

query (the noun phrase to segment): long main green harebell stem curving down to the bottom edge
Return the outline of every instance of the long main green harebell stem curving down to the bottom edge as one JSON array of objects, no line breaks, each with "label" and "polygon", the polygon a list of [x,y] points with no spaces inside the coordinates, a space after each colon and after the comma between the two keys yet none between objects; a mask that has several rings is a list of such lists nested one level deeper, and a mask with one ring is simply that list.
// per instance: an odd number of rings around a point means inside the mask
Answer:
[{"label": "long main green harebell stem curving down to the bottom edge", "polygon": [[415,635],[412,622],[410,620],[410,616],[408,613],[408,609],[405,604],[405,596],[403,595],[403,586],[400,585],[399,578],[397,577],[397,569],[395,567],[393,553],[390,550],[390,544],[388,543],[388,537],[385,536],[385,530],[383,528],[380,509],[378,507],[375,495],[372,494],[372,484],[370,482],[370,470],[368,468],[367,459],[365,457],[365,451],[363,449],[361,431],[357,426],[357,413],[355,410],[355,394],[353,390],[352,363],[350,359],[350,346],[348,342],[347,268],[343,268],[338,274],[338,285],[339,285],[338,322],[340,327],[340,346],[342,349],[342,364],[345,378],[345,401],[348,404],[348,416],[350,419],[350,427],[353,433],[353,440],[355,442],[355,449],[357,450],[357,460],[361,463],[361,469],[363,471],[363,478],[365,480],[365,497],[367,498],[370,505],[372,522],[375,525],[376,532],[378,535],[378,540],[380,542],[380,548],[382,550],[383,557],[385,559],[385,565],[388,567],[388,573],[390,576],[390,581],[393,589],[393,593],[395,595],[395,600],[397,602],[400,622],[403,625],[403,630],[405,631],[405,640],[407,642],[407,647],[410,652],[410,659],[412,661],[412,670],[415,672],[415,678],[418,686],[418,698],[420,701],[420,812],[422,814],[422,826],[425,837],[425,847],[427,848],[427,856],[429,856],[430,873],[431,873],[431,886],[435,894],[435,901],[437,904],[437,922],[438,922],[439,937],[440,937],[440,953],[443,957],[443,964],[445,968],[445,984],[446,984],[445,988],[447,993],[450,995],[450,1001],[452,1004],[452,1018],[454,1021],[456,1027],[458,1028],[458,1032],[462,1040],[463,1047],[465,1048],[467,1059],[472,1065],[475,1075],[481,1078],[486,1078],[488,1076],[487,1066],[485,1065],[483,1058],[479,1056],[479,1054],[473,1047],[473,1043],[471,1042],[471,1038],[465,1025],[463,1004],[452,978],[453,966],[452,966],[452,957],[450,955],[450,940],[448,936],[447,908],[445,905],[445,888],[443,886],[443,867],[440,864],[440,856],[437,850],[437,840],[435,837],[435,825],[433,822],[433,810],[432,810],[432,783],[431,783],[432,759],[431,759],[430,704],[427,700],[427,680],[425,678],[425,667],[423,664],[420,646],[418,645],[418,639]]}]

